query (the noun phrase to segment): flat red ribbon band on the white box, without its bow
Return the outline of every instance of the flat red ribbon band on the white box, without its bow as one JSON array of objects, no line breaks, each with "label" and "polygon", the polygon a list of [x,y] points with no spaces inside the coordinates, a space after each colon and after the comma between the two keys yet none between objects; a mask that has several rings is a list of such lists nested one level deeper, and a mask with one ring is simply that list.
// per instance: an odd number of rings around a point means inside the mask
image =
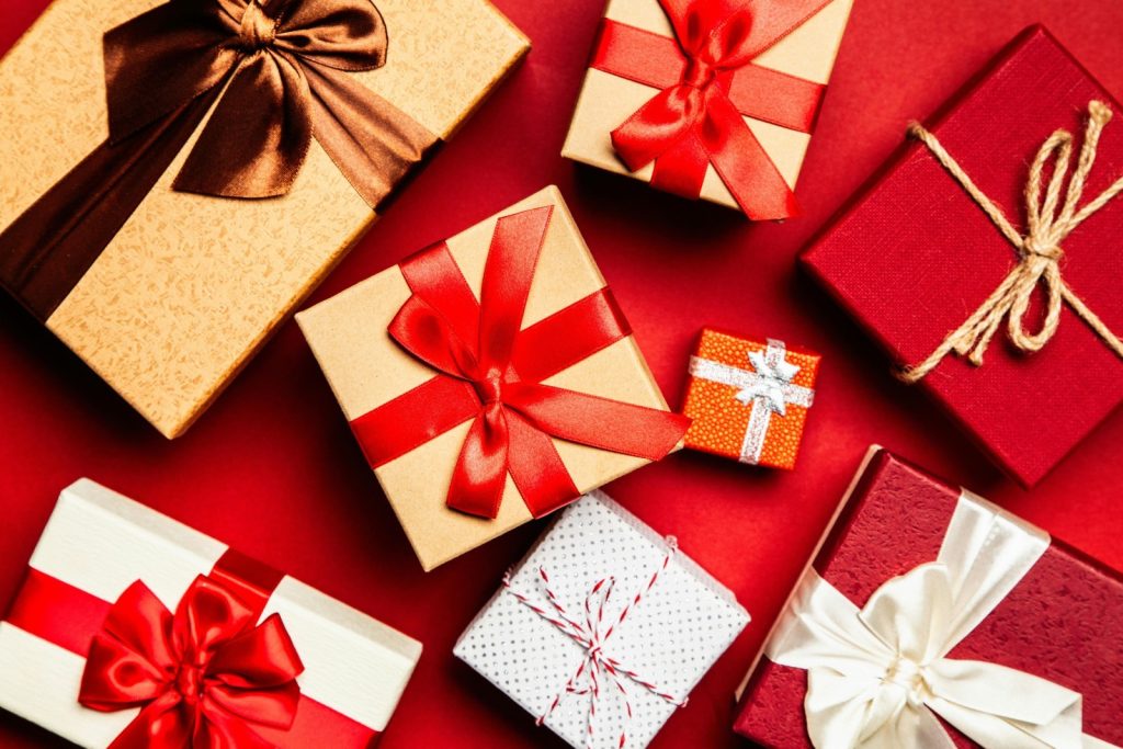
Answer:
[{"label": "flat red ribbon band on the white box, without its bow", "polygon": [[[255,612],[256,621],[281,577],[281,573],[234,550],[228,550],[214,565],[208,579],[219,582],[222,588],[235,593],[243,606]],[[29,634],[85,658],[91,651],[94,638],[102,633],[103,624],[115,605],[117,604],[102,601],[81,588],[45,575],[35,568],[29,568],[24,585],[12,602],[11,610],[4,621]],[[155,610],[155,606],[152,610]],[[143,675],[146,672],[140,670],[139,673]],[[247,692],[247,694],[249,693]],[[253,731],[266,741],[266,745],[262,746],[291,749],[303,749],[317,745],[358,748],[369,746],[378,736],[373,729],[337,713],[305,694],[298,694],[298,696],[295,714],[291,724],[253,724]],[[164,740],[164,738],[159,738],[155,741]],[[163,747],[166,745],[156,742],[141,746]],[[180,742],[175,746],[192,745]],[[222,746],[225,749],[226,745]],[[249,743],[247,746],[258,745]]]}]

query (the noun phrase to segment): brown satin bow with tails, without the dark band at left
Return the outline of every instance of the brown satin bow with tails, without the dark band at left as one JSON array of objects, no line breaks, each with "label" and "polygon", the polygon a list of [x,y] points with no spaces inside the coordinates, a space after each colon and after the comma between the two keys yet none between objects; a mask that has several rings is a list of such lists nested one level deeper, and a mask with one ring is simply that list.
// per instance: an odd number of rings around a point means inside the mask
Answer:
[{"label": "brown satin bow with tails, without the dark band at left", "polygon": [[314,137],[373,207],[432,139],[343,74],[387,42],[371,0],[171,0],[106,34],[110,140],[226,86],[176,190],[283,195]]}]

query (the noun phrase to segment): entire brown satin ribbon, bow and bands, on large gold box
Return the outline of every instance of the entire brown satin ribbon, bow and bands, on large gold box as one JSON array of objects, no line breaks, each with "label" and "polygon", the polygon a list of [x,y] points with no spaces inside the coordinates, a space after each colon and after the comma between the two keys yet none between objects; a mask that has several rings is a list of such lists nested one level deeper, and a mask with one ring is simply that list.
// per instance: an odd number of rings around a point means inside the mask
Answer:
[{"label": "entire brown satin ribbon, bow and bands, on large gold box", "polygon": [[168,0],[111,29],[109,139],[0,234],[0,284],[51,317],[212,107],[174,190],[284,195],[316,138],[377,208],[438,143],[349,75],[387,44],[371,0]]}]

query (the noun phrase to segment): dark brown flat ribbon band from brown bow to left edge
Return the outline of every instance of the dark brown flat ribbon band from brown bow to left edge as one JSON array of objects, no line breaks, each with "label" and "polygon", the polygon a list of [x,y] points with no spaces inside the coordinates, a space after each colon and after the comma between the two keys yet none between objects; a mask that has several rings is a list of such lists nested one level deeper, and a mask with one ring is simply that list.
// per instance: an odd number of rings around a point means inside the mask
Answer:
[{"label": "dark brown flat ribbon band from brown bow to left edge", "polygon": [[202,121],[221,86],[100,145],[0,234],[0,284],[46,321]]}]

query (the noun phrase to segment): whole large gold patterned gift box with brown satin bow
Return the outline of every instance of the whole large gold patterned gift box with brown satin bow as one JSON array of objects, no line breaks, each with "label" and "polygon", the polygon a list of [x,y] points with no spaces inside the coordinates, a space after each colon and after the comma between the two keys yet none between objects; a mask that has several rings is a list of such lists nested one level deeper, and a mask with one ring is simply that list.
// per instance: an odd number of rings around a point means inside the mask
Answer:
[{"label": "whole large gold patterned gift box with brown satin bow", "polygon": [[0,61],[0,285],[176,437],[528,46],[484,0],[55,0]]}]

